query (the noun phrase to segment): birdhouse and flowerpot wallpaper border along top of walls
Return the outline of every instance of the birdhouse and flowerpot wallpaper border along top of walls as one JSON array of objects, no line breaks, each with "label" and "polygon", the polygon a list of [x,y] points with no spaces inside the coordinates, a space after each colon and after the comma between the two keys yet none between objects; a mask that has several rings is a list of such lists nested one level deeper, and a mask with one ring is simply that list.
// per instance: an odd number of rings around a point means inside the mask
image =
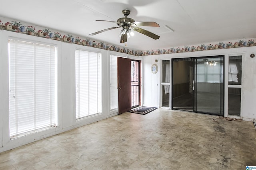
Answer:
[{"label": "birdhouse and flowerpot wallpaper border along top of walls", "polygon": [[100,48],[105,50],[116,51],[120,53],[126,53],[129,55],[135,56],[145,56],[145,55],[158,55],[158,54],[172,54],[172,53],[184,53],[184,52],[193,52],[193,51],[204,51],[204,50],[214,50],[214,49],[229,49],[237,47],[252,47],[256,46],[256,41],[254,39],[247,40],[238,40],[236,42],[219,42],[215,45],[213,44],[201,44],[201,45],[192,45],[185,47],[172,47],[170,49],[158,49],[158,50],[147,50],[147,51],[134,51],[126,49],[125,47],[117,47],[117,45],[108,45],[104,42],[96,42],[88,38],[81,38],[78,36],[73,36],[70,34],[59,33],[47,28],[35,28],[36,26],[31,26],[28,24],[21,23],[19,21],[3,21],[0,19],[0,29],[7,31],[13,31],[16,33],[24,33],[27,35],[54,39],[56,41],[63,41],[66,43],[74,43],[78,45],[84,45],[88,47]]}]

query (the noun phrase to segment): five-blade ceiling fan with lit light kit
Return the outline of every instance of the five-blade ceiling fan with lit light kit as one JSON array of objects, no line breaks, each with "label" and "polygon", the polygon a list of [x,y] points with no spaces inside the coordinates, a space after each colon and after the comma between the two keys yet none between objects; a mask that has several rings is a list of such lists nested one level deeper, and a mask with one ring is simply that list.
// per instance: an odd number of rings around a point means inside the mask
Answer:
[{"label": "five-blade ceiling fan with lit light kit", "polygon": [[[118,27],[111,27],[111,28],[103,29],[101,31],[91,33],[88,36],[96,35],[98,33],[104,32],[104,31],[108,31],[108,30],[111,30],[111,29],[116,29],[116,28],[122,27],[122,30],[119,34],[119,37],[121,37],[120,43],[127,42],[127,38],[130,37],[130,34],[131,35],[133,34],[131,29],[133,29],[134,31],[137,31],[139,33],[142,33],[144,35],[147,35],[150,38],[159,39],[160,36],[139,27],[139,26],[159,27],[158,23],[148,22],[148,21],[146,21],[146,22],[135,22],[134,19],[127,18],[127,16],[130,14],[130,10],[122,10],[122,14],[125,16],[125,18],[119,18],[117,21],[107,21],[107,22],[116,23],[118,25]],[[106,21],[106,20],[96,20],[96,21]]]}]

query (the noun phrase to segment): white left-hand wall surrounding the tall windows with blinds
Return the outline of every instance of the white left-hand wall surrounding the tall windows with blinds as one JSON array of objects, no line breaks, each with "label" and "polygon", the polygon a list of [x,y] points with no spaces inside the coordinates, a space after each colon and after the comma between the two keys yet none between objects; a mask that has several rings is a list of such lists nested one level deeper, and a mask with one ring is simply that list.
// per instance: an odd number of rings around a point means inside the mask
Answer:
[{"label": "white left-hand wall surrounding the tall windows with blinds", "polygon": [[[42,43],[51,43],[58,47],[58,127],[18,137],[9,137],[9,87],[8,87],[8,38],[17,37]],[[93,115],[76,121],[75,118],[75,49],[102,53],[102,114]],[[31,143],[82,125],[105,119],[117,114],[110,111],[109,55],[142,60],[141,57],[124,53],[106,51],[82,45],[69,44],[46,38],[40,38],[11,31],[0,30],[0,152]]]}]

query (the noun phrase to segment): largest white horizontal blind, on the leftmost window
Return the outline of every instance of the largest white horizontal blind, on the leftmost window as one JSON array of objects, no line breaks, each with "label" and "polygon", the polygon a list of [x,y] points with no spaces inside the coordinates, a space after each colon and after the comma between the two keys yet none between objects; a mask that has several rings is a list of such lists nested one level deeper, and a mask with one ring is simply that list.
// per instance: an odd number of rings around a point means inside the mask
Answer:
[{"label": "largest white horizontal blind, on the leftmost window", "polygon": [[57,126],[56,50],[9,40],[10,137]]}]

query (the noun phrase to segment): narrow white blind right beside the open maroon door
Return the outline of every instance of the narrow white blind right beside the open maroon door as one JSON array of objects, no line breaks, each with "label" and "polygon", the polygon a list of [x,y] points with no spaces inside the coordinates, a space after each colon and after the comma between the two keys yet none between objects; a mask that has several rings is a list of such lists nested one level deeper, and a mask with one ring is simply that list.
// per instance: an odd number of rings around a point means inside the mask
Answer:
[{"label": "narrow white blind right beside the open maroon door", "polygon": [[118,108],[117,56],[110,55],[110,110]]}]

